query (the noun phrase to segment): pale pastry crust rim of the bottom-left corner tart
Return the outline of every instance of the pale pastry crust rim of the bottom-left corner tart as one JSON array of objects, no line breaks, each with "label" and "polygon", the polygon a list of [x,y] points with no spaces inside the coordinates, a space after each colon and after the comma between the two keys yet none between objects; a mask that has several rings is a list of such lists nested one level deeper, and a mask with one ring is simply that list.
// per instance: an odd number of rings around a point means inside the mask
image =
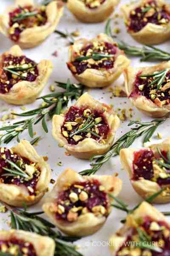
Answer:
[{"label": "pale pastry crust rim of the bottom-left corner tart", "polygon": [[[33,247],[33,255],[36,254],[37,256],[54,256],[55,243],[54,240],[48,236],[37,235],[36,233],[26,232],[23,230],[3,230],[0,231],[0,240],[4,241],[4,244],[6,241],[11,241],[11,243],[12,240],[15,240],[15,243],[18,241],[18,245],[21,248],[24,248],[22,242],[26,242],[31,245],[30,247]],[[27,246],[29,248],[29,244],[26,244],[26,249]],[[4,252],[4,250],[4,247],[3,250],[0,248],[0,251],[3,251],[3,253],[8,252],[8,249],[7,252]]]}]

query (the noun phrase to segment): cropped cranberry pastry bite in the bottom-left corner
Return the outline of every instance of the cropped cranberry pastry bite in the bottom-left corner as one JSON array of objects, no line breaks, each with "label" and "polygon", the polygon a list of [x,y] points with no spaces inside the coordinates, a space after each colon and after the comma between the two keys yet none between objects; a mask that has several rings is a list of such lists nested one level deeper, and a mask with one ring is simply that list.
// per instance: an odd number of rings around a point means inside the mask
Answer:
[{"label": "cropped cranberry pastry bite in the bottom-left corner", "polygon": [[0,231],[0,252],[4,255],[54,256],[55,243],[48,236],[23,230]]}]

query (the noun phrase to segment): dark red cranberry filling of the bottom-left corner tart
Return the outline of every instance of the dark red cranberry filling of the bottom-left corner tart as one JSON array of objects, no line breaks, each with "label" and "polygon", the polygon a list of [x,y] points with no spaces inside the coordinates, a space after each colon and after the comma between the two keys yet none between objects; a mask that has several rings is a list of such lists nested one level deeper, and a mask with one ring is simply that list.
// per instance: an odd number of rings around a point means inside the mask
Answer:
[{"label": "dark red cranberry filling of the bottom-left corner tart", "polygon": [[0,240],[0,252],[14,256],[37,256],[33,244],[24,241],[23,239],[17,238],[10,238],[9,240]]}]

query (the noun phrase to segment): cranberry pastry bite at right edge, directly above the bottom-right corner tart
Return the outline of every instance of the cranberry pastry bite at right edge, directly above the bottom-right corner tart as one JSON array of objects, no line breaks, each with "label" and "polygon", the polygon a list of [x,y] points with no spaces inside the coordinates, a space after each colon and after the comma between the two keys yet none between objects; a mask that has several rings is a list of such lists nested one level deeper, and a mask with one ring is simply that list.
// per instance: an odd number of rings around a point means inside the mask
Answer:
[{"label": "cranberry pastry bite at right edge, directly above the bottom-right corner tart", "polygon": [[148,148],[122,149],[120,160],[141,197],[146,199],[164,188],[153,202],[170,202],[170,137]]}]

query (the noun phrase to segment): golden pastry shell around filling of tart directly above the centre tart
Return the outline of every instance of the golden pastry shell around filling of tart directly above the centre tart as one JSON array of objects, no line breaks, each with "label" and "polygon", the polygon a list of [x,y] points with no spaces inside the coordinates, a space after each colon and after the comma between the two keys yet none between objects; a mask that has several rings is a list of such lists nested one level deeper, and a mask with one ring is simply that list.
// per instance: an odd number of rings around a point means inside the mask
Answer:
[{"label": "golden pastry shell around filling of tart directly above the centre tart", "polygon": [[[115,44],[113,39],[105,34],[99,34],[96,38],[90,40],[89,42],[99,41],[108,42],[110,44]],[[68,63],[75,60],[76,53],[80,49],[85,47],[88,40],[82,38],[74,42],[68,49]],[[82,84],[88,87],[105,87],[111,85],[119,76],[123,73],[124,69],[130,65],[130,60],[125,56],[124,51],[117,47],[117,52],[115,54],[115,62],[113,68],[110,69],[94,69],[87,68],[82,74],[73,74],[73,76]]]}]

